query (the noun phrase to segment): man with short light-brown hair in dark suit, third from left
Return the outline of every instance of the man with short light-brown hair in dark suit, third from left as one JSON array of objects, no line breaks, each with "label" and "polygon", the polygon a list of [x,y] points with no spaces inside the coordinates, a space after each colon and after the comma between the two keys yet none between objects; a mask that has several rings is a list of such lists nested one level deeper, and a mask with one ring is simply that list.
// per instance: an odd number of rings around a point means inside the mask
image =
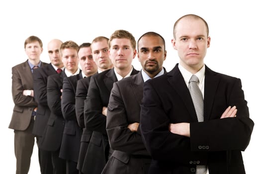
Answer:
[{"label": "man with short light-brown hair in dark suit, third from left", "polygon": [[60,74],[51,75],[47,78],[47,104],[51,110],[50,117],[45,128],[41,148],[52,152],[54,174],[66,173],[66,159],[60,153],[61,141],[65,126],[65,120],[61,110],[61,95],[63,79],[79,74],[78,68],[78,45],[73,41],[66,41],[60,47],[62,62],[65,70]]}]

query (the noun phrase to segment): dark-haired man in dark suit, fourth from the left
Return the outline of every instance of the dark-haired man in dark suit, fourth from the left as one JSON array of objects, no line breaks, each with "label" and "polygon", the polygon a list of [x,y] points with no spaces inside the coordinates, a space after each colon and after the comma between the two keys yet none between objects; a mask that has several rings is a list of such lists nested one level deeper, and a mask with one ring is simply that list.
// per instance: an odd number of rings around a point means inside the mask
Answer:
[{"label": "dark-haired man in dark suit, fourth from the left", "polygon": [[81,73],[76,76],[64,78],[63,81],[61,108],[66,123],[60,154],[61,158],[67,159],[70,165],[68,174],[79,174],[77,162],[80,152],[82,128],[78,126],[75,109],[77,83],[78,80],[97,73],[97,66],[93,61],[90,45],[90,43],[83,43],[79,46],[78,58],[82,69]]}]

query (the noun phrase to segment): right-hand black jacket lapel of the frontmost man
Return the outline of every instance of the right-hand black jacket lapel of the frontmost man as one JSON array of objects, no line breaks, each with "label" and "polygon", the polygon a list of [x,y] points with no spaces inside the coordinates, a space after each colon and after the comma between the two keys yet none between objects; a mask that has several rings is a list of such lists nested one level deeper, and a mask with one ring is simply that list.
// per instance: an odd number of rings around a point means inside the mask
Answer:
[{"label": "right-hand black jacket lapel of the frontmost man", "polygon": [[204,120],[210,119],[210,113],[214,103],[214,97],[217,91],[220,76],[217,73],[205,67],[205,92],[204,92]]}]

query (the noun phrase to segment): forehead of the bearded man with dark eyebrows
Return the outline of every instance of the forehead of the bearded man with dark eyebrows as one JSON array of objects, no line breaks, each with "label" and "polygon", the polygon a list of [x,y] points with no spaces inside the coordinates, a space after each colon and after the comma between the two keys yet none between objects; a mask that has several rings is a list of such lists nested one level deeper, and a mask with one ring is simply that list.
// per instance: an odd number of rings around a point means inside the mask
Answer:
[{"label": "forehead of the bearded man with dark eyebrows", "polygon": [[157,46],[164,47],[164,42],[162,38],[159,36],[154,36],[154,35],[143,36],[138,42],[139,49],[142,47],[150,48],[150,47],[157,47]]}]

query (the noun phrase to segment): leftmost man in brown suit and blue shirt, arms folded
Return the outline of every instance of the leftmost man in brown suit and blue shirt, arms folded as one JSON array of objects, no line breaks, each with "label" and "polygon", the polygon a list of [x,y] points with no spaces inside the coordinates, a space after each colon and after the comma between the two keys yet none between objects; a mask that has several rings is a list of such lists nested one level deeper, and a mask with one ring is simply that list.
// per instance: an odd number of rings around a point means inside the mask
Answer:
[{"label": "leftmost man in brown suit and blue shirt, arms folded", "polygon": [[28,60],[12,67],[12,97],[14,108],[8,127],[14,129],[16,174],[27,174],[30,168],[30,160],[35,142],[32,129],[37,111],[37,102],[34,99],[32,73],[36,68],[46,64],[40,61],[43,43],[38,37],[28,37],[24,42],[24,49]]}]

